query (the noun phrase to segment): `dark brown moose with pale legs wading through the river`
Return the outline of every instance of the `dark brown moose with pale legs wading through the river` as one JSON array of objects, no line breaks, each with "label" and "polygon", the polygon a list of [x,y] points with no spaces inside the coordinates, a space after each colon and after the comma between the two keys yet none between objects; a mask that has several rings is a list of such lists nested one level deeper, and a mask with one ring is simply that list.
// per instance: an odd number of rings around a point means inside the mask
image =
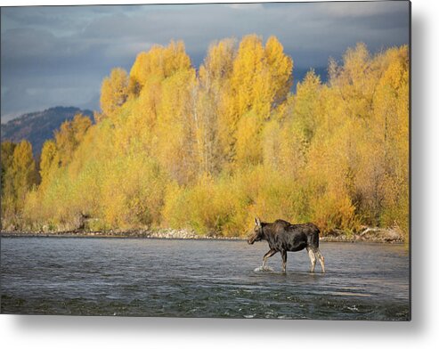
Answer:
[{"label": "dark brown moose with pale legs wading through the river", "polygon": [[287,251],[301,251],[306,248],[311,261],[311,272],[314,272],[316,259],[321,264],[321,272],[325,272],[325,259],[319,250],[320,230],[313,223],[291,224],[278,219],[273,223],[264,223],[255,217],[255,229],[248,237],[248,244],[265,240],[270,250],[264,255],[262,267],[267,259],[280,252],[282,256],[282,271],[287,271]]}]

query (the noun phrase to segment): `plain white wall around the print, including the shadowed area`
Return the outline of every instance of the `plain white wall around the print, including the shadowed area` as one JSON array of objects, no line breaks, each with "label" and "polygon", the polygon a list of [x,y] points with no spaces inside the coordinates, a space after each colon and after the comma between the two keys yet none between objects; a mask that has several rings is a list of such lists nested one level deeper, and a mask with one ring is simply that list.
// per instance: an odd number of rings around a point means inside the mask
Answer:
[{"label": "plain white wall around the print, including the shadowed area", "polygon": [[[189,0],[188,0],[189,1]],[[191,3],[200,1],[190,0]],[[183,1],[151,1],[180,3]],[[216,0],[216,2],[221,2]],[[224,1],[223,1],[224,2]],[[144,4],[12,1],[0,4]],[[3,348],[430,348],[439,343],[438,2],[412,1],[412,321],[260,321],[0,315]]]}]

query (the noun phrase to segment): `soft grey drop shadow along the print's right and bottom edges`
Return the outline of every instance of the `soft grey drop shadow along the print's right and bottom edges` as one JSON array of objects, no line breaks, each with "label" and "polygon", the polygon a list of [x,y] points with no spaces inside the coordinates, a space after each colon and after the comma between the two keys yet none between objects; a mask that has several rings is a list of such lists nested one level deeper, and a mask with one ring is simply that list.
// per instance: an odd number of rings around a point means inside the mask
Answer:
[{"label": "soft grey drop shadow along the print's right and bottom edges", "polygon": [[[119,333],[171,333],[173,336],[188,333],[211,336],[255,336],[255,333],[270,335],[326,336],[335,339],[357,340],[366,333],[378,337],[410,336],[421,334],[425,329],[427,277],[427,254],[422,254],[419,241],[425,239],[427,228],[427,207],[422,198],[427,196],[427,122],[425,119],[425,94],[423,82],[426,81],[427,51],[425,45],[425,19],[413,15],[411,20],[412,41],[412,84],[411,84],[411,231],[416,237],[411,244],[411,322],[383,321],[291,321],[291,320],[235,320],[235,319],[183,319],[183,318],[135,318],[135,317],[93,317],[93,316],[37,316],[17,315],[12,317],[12,326],[28,336],[32,332],[80,331],[82,334]],[[418,241],[418,242],[417,242]],[[414,311],[413,311],[414,308]],[[342,325],[341,325],[342,324]]]}]

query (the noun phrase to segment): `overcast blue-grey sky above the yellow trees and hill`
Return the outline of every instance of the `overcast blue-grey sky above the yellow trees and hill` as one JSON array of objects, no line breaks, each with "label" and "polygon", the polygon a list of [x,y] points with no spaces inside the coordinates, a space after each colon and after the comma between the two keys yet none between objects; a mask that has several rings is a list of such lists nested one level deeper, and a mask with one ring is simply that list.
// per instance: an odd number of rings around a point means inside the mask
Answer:
[{"label": "overcast blue-grey sky above the yellow trees and hill", "polygon": [[129,71],[153,44],[183,40],[198,67],[212,41],[253,33],[279,38],[296,79],[310,68],[325,75],[329,57],[357,42],[372,53],[408,44],[409,3],[3,7],[2,122],[54,106],[99,109],[102,78]]}]

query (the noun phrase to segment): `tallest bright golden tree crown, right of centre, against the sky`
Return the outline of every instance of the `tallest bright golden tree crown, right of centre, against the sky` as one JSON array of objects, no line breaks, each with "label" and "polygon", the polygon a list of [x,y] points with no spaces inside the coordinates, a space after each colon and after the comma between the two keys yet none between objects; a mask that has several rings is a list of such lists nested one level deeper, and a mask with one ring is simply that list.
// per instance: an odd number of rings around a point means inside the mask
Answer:
[{"label": "tallest bright golden tree crown, right of centre, against the sky", "polygon": [[256,35],[242,38],[233,61],[229,107],[220,120],[220,141],[229,161],[262,160],[261,131],[276,102],[289,93],[291,70],[291,59],[274,37],[266,47]]}]

